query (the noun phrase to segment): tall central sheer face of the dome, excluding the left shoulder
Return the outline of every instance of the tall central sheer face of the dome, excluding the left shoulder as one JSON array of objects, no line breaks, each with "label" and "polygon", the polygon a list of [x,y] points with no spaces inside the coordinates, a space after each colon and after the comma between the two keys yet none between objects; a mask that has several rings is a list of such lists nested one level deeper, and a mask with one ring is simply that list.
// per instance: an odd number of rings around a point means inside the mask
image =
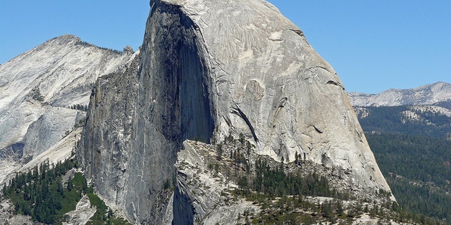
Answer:
[{"label": "tall central sheer face of the dome, excluding the left shoulder", "polygon": [[129,181],[132,187],[147,186],[148,190],[128,191],[133,203],[142,202],[138,204],[141,214],[154,207],[148,207],[148,202],[158,195],[162,181],[173,179],[173,164],[183,140],[209,141],[214,130],[209,80],[197,46],[198,37],[191,20],[180,13],[178,6],[158,2],[152,6],[138,72],[132,141],[138,157],[130,161],[142,174],[130,176]]}]

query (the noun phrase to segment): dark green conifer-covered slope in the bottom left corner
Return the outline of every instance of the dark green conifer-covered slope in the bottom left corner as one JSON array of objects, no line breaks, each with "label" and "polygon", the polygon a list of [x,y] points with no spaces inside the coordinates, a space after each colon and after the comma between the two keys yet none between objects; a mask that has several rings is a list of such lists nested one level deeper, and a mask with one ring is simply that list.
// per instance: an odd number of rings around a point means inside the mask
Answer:
[{"label": "dark green conifer-covered slope in the bottom left corner", "polygon": [[77,162],[72,157],[56,165],[47,161],[27,172],[20,172],[3,186],[1,200],[11,201],[13,214],[29,216],[30,221],[71,224],[68,212],[75,210],[77,203],[86,195],[95,212],[87,218],[86,224],[130,224],[113,214],[94,189],[88,186],[85,176],[77,168]]}]

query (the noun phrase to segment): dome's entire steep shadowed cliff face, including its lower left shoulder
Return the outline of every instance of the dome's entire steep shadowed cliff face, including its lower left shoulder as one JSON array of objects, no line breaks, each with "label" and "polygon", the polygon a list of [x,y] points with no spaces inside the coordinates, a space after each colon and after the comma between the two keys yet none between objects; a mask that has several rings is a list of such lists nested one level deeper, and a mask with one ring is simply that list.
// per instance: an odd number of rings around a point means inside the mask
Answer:
[{"label": "dome's entire steep shadowed cliff face, including its lower left shoulder", "polygon": [[140,55],[125,74],[101,77],[91,98],[82,162],[107,202],[137,223],[159,224],[185,139],[214,131],[199,34],[178,6],[151,2]]}]

